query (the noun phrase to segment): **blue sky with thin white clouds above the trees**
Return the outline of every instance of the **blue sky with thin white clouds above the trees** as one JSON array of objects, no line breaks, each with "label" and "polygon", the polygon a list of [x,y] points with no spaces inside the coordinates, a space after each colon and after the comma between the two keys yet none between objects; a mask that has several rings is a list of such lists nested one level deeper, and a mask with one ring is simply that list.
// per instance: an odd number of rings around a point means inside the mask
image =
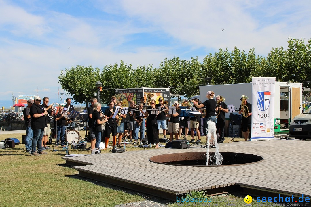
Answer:
[{"label": "blue sky with thin white clouds above the trees", "polygon": [[310,39],[310,23],[309,0],[0,0],[0,106],[37,87],[59,102],[60,71],[75,65],[158,67],[234,46],[267,56],[289,37]]}]

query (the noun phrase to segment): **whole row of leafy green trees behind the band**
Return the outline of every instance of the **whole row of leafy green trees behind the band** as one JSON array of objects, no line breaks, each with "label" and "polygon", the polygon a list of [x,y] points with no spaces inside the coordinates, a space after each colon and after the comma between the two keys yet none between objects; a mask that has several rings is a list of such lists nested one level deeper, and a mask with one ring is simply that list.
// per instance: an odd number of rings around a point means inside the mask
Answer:
[{"label": "whole row of leafy green trees behind the band", "polygon": [[[212,77],[212,84],[248,83],[252,77],[276,77],[276,81],[306,82],[311,74],[311,39],[288,39],[288,48],[272,48],[267,57],[256,56],[255,48],[248,52],[234,47],[233,51],[220,49],[208,54],[201,63],[198,57],[182,60],[165,58],[158,68],[138,65],[136,69],[123,61],[100,69],[91,65],[77,65],[61,71],[59,83],[66,95],[83,103],[93,97],[95,82],[103,84],[101,101],[108,102],[116,88],[171,88],[172,94],[187,97],[199,93],[204,77]],[[310,87],[311,84],[304,84]]]}]

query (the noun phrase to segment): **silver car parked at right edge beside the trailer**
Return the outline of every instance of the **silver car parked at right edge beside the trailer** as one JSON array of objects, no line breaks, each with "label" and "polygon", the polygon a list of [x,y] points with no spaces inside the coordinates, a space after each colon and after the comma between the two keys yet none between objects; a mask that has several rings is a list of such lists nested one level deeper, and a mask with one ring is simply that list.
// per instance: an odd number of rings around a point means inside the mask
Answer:
[{"label": "silver car parked at right edge beside the trailer", "polygon": [[311,139],[311,107],[291,120],[289,131],[290,137]]}]

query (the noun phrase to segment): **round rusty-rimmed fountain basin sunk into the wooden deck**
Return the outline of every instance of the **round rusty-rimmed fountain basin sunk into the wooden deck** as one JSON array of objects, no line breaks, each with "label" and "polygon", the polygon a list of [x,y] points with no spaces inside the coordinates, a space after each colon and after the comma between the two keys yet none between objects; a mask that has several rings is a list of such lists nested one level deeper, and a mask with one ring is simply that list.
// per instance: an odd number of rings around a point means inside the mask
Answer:
[{"label": "round rusty-rimmed fountain basin sunk into the wooden deck", "polygon": [[158,164],[179,165],[179,166],[196,166],[196,167],[221,167],[258,163],[263,160],[261,156],[236,153],[236,152],[220,152],[223,157],[221,165],[211,165],[211,160],[215,156],[215,152],[209,152],[209,165],[206,165],[206,152],[183,152],[164,155],[156,155],[149,158],[149,161]]}]

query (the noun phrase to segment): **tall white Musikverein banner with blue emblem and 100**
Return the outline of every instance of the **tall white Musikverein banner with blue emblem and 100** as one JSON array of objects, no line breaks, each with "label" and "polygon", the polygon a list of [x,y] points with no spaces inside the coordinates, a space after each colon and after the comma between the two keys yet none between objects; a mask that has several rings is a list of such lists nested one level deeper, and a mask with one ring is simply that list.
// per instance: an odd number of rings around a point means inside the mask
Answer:
[{"label": "tall white Musikverein banner with blue emblem and 100", "polygon": [[275,78],[252,78],[252,140],[274,139]]}]

